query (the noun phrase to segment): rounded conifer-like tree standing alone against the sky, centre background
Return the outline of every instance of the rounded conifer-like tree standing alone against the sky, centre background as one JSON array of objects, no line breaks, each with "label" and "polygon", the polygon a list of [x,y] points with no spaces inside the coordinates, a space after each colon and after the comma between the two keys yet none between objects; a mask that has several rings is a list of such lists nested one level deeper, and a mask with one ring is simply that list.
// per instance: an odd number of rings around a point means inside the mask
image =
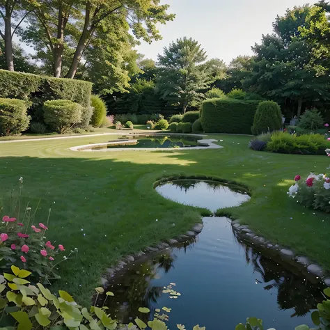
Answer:
[{"label": "rounded conifer-like tree standing alone against the sky, centre background", "polygon": [[185,113],[188,107],[197,106],[212,82],[205,68],[206,52],[196,40],[178,39],[164,47],[158,55],[159,72],[157,90],[171,105],[178,105]]}]

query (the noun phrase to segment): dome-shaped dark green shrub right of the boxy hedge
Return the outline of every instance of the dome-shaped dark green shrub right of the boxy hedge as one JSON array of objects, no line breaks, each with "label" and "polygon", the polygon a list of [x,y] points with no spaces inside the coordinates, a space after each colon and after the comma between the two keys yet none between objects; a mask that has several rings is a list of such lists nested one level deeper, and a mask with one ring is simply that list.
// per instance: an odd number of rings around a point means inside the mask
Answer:
[{"label": "dome-shaped dark green shrub right of the boxy hedge", "polygon": [[280,106],[274,101],[260,102],[254,115],[251,132],[254,135],[273,132],[282,127]]}]

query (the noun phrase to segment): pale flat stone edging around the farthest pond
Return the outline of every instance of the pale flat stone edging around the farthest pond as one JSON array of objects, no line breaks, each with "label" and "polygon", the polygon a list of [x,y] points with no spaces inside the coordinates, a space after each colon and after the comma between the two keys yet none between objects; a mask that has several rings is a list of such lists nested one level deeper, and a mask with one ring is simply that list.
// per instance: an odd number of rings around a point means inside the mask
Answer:
[{"label": "pale flat stone edging around the farthest pond", "polygon": [[[160,134],[158,134],[158,135],[160,135]],[[92,144],[85,144],[83,146],[75,146],[75,147],[71,147],[70,150],[84,151],[84,152],[111,152],[111,151],[173,151],[173,150],[179,151],[179,150],[205,150],[205,149],[223,148],[214,143],[217,141],[218,140],[214,140],[214,139],[197,140],[197,142],[201,146],[187,147],[187,148],[111,148],[111,149],[104,148],[104,149],[98,149],[98,150],[88,149],[91,147],[108,146],[111,144],[116,145],[116,144],[118,144],[118,142],[120,142],[120,144],[123,144],[123,145],[126,143],[137,142],[137,140],[129,140],[129,141],[116,140],[116,141],[109,141],[109,142],[104,142],[104,143],[92,143]]]}]

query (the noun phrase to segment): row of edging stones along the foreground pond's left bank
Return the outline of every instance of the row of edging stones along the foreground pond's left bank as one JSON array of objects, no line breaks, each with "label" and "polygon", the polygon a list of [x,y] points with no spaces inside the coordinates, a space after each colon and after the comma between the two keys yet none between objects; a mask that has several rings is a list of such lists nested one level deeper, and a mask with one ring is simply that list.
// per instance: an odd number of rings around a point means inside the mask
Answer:
[{"label": "row of edging stones along the foreground pond's left bank", "polygon": [[107,268],[107,272],[101,278],[102,285],[104,286],[104,288],[107,287],[109,285],[110,278],[115,273],[120,272],[122,269],[124,269],[128,263],[134,262],[135,260],[146,256],[147,253],[155,253],[158,251],[167,250],[171,247],[175,247],[179,243],[189,242],[189,240],[194,239],[199,233],[201,233],[203,226],[203,223],[196,223],[194,227],[192,227],[191,230],[188,230],[187,233],[185,233],[184,235],[176,236],[173,239],[166,239],[166,241],[160,242],[156,246],[146,247],[146,249],[144,249],[143,251],[135,253],[134,256],[126,256],[120,259],[117,262],[116,267]]}]

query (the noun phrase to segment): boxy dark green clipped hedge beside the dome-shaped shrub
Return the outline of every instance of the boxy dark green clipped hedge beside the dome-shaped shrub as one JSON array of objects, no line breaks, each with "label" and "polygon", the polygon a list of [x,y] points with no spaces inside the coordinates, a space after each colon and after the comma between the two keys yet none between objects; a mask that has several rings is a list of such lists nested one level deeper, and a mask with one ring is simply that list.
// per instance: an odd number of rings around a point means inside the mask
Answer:
[{"label": "boxy dark green clipped hedge beside the dome-shaped shrub", "polygon": [[203,131],[251,134],[251,126],[259,102],[230,98],[205,100],[201,107]]}]

